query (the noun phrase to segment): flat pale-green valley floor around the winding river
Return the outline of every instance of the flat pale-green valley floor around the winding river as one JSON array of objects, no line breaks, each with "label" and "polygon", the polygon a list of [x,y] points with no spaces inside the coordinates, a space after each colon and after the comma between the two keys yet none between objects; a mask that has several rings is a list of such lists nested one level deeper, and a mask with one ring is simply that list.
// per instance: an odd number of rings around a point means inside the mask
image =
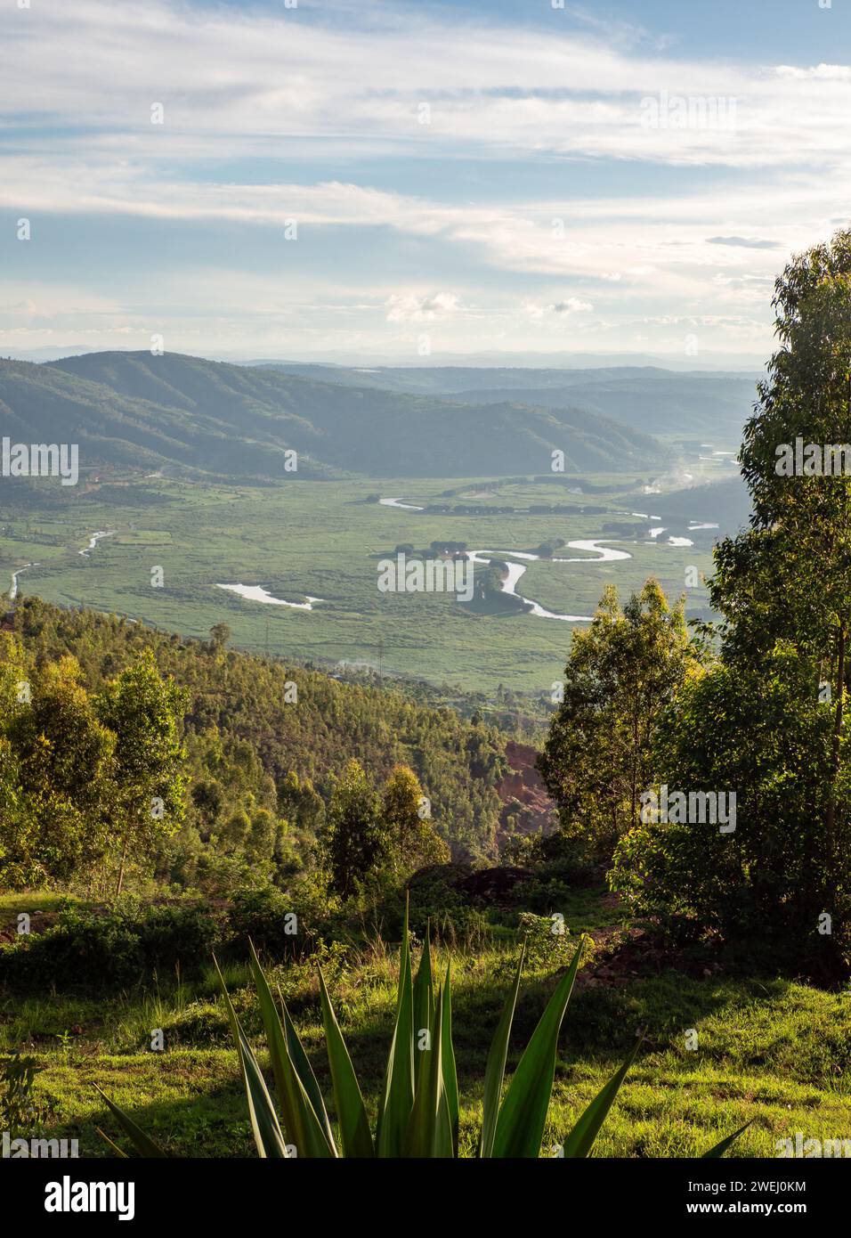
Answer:
[{"label": "flat pale-green valley floor around the winding river", "polygon": [[[254,651],[315,660],[381,665],[386,673],[492,692],[500,683],[545,695],[562,675],[570,624],[497,608],[475,613],[444,594],[381,594],[377,558],[400,542],[428,547],[437,539],[465,541],[471,548],[529,550],[547,539],[616,539],[633,557],[601,563],[532,562],[520,592],[555,613],[590,615],[604,586],[627,594],[656,574],[672,595],[684,589],[685,567],[711,566],[716,534],[693,535],[694,547],[657,543],[648,521],[653,499],[630,498],[635,475],[594,475],[599,488],[584,495],[569,488],[589,483],[506,483],[453,485],[423,479],[287,482],[275,487],[224,487],[200,482],[147,479],[87,494],[61,495],[58,506],[28,515],[0,508],[0,579],[24,563],[22,593],[64,605],[145,619],[184,635],[205,636],[226,621],[234,644]],[[486,484],[468,494],[468,485]],[[40,491],[37,491],[38,494]],[[481,515],[423,515],[365,501],[370,494],[402,496],[413,504],[468,503]],[[56,501],[56,500],[53,500]],[[569,505],[567,514],[487,514],[487,508]],[[586,506],[591,510],[583,513]],[[626,514],[625,514],[626,510]],[[719,513],[724,521],[724,513]],[[604,529],[604,525],[615,529]],[[668,521],[665,521],[668,524]],[[670,527],[684,534],[685,521]],[[88,556],[79,551],[96,530],[111,530]],[[579,551],[560,551],[580,557]],[[161,567],[165,587],[151,584]],[[313,612],[246,602],[218,583],[261,584],[275,597],[325,599]],[[5,588],[5,583],[2,584]],[[706,605],[703,587],[688,591],[690,613]]]}]

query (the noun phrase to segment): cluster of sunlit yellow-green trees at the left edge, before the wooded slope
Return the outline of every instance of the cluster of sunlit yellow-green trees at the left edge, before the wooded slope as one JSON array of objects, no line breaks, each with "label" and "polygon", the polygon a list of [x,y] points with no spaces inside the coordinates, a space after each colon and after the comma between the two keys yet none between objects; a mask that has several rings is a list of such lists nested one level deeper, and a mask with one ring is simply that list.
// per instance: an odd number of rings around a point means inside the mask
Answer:
[{"label": "cluster of sunlit yellow-green trees at the left edge, before the wooded slope", "polygon": [[122,872],[129,853],[150,852],[158,833],[176,828],[183,697],[150,652],[93,696],[72,655],[32,665],[6,638],[0,685],[10,706],[0,716],[4,884],[90,874],[116,837]]}]

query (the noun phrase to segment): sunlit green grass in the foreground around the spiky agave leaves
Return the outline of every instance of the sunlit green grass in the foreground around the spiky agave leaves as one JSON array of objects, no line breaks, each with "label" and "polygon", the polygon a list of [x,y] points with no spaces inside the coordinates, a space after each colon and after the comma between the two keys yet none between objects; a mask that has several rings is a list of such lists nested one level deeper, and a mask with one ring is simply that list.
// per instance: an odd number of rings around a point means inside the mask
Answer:
[{"label": "sunlit green grass in the foreground around the spiky agave leaves", "polygon": [[[565,907],[571,928],[596,932],[618,919],[599,890],[575,891]],[[516,937],[495,933],[475,954],[453,957],[463,1155],[471,1153],[481,1119],[486,1046],[511,983]],[[445,952],[437,953],[445,963]],[[798,1130],[806,1138],[849,1136],[847,994],[783,979],[694,978],[673,969],[610,980],[595,976],[600,962],[611,959],[597,952],[584,964],[568,1009],[544,1155],[555,1154],[639,1029],[644,1044],[604,1125],[596,1156],[695,1155],[746,1122],[752,1124],[736,1146],[738,1156],[773,1156],[776,1140]],[[527,968],[510,1068],[552,993],[557,971],[552,959],[541,958]],[[275,968],[272,979],[281,983],[329,1092],[312,968]],[[231,966],[226,982],[251,1040],[262,1042],[246,967]],[[329,974],[329,989],[374,1118],[393,1020],[395,953],[380,940],[353,947]],[[165,1031],[162,1054],[147,1049],[155,1028]],[[694,1050],[686,1047],[690,1029],[698,1034]],[[192,985],[161,980],[158,990],[109,1002],[2,999],[0,1045],[37,1052],[45,1065],[37,1087],[57,1104],[51,1134],[79,1138],[84,1155],[106,1154],[98,1125],[121,1141],[95,1082],[173,1154],[252,1155],[236,1055],[212,969]]]}]

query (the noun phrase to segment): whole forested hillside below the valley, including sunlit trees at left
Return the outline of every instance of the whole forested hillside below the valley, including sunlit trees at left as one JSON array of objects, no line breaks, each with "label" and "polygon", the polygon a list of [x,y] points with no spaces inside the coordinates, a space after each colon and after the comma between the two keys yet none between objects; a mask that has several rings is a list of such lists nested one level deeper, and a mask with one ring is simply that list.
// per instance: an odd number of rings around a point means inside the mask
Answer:
[{"label": "whole forested hillside below the valley, including sunlit trees at left", "polygon": [[497,730],[226,639],[21,599],[0,633],[0,885],[349,898],[495,854]]}]

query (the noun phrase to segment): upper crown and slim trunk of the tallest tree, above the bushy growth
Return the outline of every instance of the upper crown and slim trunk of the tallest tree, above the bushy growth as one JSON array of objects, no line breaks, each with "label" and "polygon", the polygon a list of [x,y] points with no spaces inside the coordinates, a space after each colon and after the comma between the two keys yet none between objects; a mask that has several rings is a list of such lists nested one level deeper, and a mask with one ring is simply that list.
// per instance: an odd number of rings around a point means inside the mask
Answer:
[{"label": "upper crown and slim trunk of the tallest tree, above the bushy growth", "polygon": [[789,262],[772,305],[779,348],[740,454],[751,527],[717,547],[710,593],[725,656],[753,660],[789,641],[832,711],[819,795],[830,869],[847,846],[837,794],[851,672],[851,230]]}]

